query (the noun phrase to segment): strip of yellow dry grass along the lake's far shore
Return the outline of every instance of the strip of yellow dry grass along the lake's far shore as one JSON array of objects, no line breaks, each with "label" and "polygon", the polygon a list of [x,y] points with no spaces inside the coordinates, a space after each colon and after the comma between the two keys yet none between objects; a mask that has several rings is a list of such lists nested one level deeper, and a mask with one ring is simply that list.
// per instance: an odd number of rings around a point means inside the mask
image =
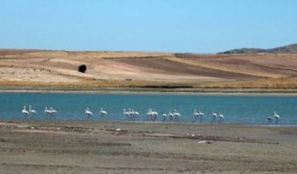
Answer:
[{"label": "strip of yellow dry grass along the lake's far shore", "polygon": [[254,81],[126,81],[126,80],[99,80],[80,81],[76,83],[48,83],[35,81],[0,81],[0,86],[28,87],[28,88],[69,88],[69,89],[103,89],[103,88],[262,88],[262,89],[297,89],[297,78],[260,79]]}]

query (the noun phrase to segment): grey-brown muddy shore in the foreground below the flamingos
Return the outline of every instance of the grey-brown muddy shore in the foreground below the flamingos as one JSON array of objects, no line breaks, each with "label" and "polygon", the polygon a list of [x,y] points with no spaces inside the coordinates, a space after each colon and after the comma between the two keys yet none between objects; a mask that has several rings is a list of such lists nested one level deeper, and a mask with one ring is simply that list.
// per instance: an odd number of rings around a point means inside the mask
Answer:
[{"label": "grey-brown muddy shore in the foreground below the flamingos", "polygon": [[0,120],[0,173],[297,173],[297,127]]}]

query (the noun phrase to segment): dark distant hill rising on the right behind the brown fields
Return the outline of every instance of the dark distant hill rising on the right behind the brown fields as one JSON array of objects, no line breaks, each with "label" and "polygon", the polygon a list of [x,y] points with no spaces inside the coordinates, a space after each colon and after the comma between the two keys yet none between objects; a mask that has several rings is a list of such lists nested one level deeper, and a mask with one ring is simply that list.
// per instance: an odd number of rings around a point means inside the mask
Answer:
[{"label": "dark distant hill rising on the right behind the brown fields", "polygon": [[297,44],[286,45],[283,47],[275,47],[271,49],[241,48],[241,49],[235,49],[235,50],[228,50],[226,52],[219,52],[218,54],[257,54],[257,53],[297,54]]}]

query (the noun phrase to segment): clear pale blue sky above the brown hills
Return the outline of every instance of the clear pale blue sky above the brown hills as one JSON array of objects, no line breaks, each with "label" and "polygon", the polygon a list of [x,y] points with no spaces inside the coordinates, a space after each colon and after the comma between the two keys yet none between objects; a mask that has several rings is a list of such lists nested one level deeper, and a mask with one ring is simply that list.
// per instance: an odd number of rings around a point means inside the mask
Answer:
[{"label": "clear pale blue sky above the brown hills", "polygon": [[297,42],[296,0],[0,0],[0,48],[215,53]]}]

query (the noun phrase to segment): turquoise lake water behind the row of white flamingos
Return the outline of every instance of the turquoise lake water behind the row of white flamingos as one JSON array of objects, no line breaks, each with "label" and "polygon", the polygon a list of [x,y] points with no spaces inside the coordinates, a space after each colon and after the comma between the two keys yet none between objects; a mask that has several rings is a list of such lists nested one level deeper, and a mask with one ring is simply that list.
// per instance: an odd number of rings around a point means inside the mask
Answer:
[{"label": "turquoise lake water behind the row of white flamingos", "polygon": [[149,108],[159,112],[176,109],[182,122],[194,120],[194,108],[205,114],[203,122],[211,121],[211,113],[222,112],[224,122],[267,124],[267,115],[276,111],[279,124],[297,124],[297,96],[288,95],[174,95],[174,94],[123,94],[123,93],[0,93],[0,118],[21,119],[23,105],[32,105],[45,119],[45,106],[57,110],[59,120],[84,120],[84,109],[93,112],[99,120],[99,108],[108,112],[106,120],[123,120],[123,108],[140,112],[139,120],[146,120]]}]

